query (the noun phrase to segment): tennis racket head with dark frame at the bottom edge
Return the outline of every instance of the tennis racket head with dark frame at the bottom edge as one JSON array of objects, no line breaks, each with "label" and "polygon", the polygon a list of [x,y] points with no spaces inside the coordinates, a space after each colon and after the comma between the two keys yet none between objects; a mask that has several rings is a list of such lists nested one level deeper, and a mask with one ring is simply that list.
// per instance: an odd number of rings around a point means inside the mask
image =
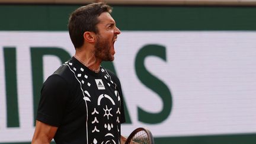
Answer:
[{"label": "tennis racket head with dark frame at the bottom edge", "polygon": [[143,127],[139,127],[127,137],[125,144],[154,144],[152,133]]}]

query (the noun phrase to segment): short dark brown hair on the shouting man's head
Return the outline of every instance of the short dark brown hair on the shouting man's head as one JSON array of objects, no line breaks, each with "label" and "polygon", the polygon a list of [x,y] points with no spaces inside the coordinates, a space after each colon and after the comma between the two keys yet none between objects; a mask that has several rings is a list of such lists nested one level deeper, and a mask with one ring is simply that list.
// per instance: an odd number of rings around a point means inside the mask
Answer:
[{"label": "short dark brown hair on the shouting man's head", "polygon": [[92,3],[80,7],[72,12],[69,17],[69,36],[75,48],[79,48],[84,44],[84,32],[92,31],[98,33],[96,25],[99,23],[98,16],[103,12],[112,12],[109,5],[100,3]]}]

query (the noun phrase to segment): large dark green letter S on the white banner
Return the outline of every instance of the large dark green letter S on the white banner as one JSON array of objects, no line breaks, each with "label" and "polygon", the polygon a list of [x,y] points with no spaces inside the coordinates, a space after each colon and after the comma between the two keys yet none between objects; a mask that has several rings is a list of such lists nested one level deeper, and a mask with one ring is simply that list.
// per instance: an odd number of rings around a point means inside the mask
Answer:
[{"label": "large dark green letter S on the white banner", "polygon": [[156,44],[146,45],[139,50],[135,60],[135,70],[137,77],[146,87],[152,89],[152,91],[155,91],[156,94],[161,97],[163,104],[163,108],[159,113],[149,113],[138,107],[139,121],[142,121],[143,123],[155,124],[161,123],[162,121],[167,119],[167,117],[171,113],[172,96],[167,85],[165,85],[164,82],[156,78],[156,76],[153,76],[145,68],[144,60],[147,56],[158,56],[166,61],[165,47]]}]

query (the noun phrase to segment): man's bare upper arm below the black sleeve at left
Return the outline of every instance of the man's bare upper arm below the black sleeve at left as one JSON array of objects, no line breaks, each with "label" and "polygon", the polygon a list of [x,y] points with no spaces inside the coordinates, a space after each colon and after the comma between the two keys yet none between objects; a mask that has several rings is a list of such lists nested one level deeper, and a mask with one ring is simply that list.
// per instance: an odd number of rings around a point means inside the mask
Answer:
[{"label": "man's bare upper arm below the black sleeve at left", "polygon": [[56,131],[57,127],[37,120],[32,144],[49,144],[55,136]]}]

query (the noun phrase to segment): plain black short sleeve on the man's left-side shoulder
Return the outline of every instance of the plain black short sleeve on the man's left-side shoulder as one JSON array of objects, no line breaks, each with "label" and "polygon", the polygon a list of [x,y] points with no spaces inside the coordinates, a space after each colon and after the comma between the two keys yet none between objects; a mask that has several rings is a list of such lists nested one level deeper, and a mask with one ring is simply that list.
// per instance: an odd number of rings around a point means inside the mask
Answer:
[{"label": "plain black short sleeve on the man's left-side shoulder", "polygon": [[60,126],[68,95],[67,82],[59,75],[49,76],[41,89],[36,119],[51,126]]}]

